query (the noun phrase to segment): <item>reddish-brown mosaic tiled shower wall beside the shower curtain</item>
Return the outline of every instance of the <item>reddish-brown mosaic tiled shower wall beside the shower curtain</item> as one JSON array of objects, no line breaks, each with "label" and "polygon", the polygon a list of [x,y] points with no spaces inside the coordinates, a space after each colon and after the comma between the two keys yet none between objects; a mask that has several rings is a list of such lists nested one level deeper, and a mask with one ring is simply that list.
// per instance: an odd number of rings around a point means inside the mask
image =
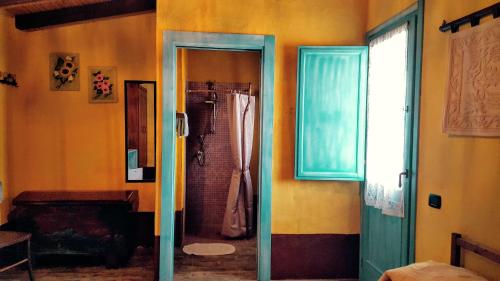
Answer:
[{"label": "reddish-brown mosaic tiled shower wall beside the shower curtain", "polygon": [[[217,83],[243,88],[242,83]],[[188,82],[187,89],[206,88],[204,83]],[[231,182],[233,160],[229,135],[226,95],[218,94],[215,134],[210,134],[212,106],[204,103],[206,93],[186,97],[189,136],[186,146],[186,233],[203,237],[220,235]],[[258,124],[256,124],[257,126]],[[205,136],[205,166],[194,157],[200,149],[199,136]]]}]

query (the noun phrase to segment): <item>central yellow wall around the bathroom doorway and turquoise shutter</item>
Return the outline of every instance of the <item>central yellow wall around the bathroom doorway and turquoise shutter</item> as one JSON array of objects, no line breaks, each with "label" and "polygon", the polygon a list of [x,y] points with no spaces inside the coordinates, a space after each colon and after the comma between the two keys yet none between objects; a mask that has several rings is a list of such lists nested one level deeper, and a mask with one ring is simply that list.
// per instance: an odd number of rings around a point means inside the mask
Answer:
[{"label": "central yellow wall around the bathroom doorway and turquoise shutter", "polygon": [[[157,48],[161,48],[163,30],[276,36],[273,233],[359,233],[357,183],[293,178],[295,76],[297,46],[362,45],[365,19],[364,0],[158,2]],[[157,54],[159,80],[161,49]],[[158,227],[159,217],[156,233]]]}]

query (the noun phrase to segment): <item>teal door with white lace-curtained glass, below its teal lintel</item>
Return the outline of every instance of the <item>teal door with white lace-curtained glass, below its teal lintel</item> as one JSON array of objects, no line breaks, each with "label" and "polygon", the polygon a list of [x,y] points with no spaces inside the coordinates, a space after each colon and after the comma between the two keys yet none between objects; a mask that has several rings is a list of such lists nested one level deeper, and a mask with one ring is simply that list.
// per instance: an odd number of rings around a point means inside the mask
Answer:
[{"label": "teal door with white lace-curtained glass, below its teal lintel", "polygon": [[368,37],[361,281],[378,280],[385,270],[414,259],[415,18],[409,15]]}]

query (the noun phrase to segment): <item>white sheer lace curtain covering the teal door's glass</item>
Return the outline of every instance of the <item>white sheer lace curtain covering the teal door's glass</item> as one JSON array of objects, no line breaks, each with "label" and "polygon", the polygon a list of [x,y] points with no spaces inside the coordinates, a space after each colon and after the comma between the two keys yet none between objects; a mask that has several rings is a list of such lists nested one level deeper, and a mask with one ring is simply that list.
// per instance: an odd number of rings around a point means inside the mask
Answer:
[{"label": "white sheer lace curtain covering the teal door's glass", "polygon": [[370,42],[365,204],[404,217],[407,24]]}]

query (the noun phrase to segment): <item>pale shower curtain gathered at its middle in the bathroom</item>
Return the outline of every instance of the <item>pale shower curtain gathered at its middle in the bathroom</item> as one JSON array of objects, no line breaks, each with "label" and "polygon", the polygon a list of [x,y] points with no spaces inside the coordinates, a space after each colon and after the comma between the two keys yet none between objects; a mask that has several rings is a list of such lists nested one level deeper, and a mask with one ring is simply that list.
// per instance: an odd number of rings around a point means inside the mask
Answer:
[{"label": "pale shower curtain gathered at its middle in the bathroom", "polygon": [[235,238],[247,236],[253,228],[253,190],[249,168],[255,97],[230,94],[227,95],[227,105],[234,168],[221,233]]}]

